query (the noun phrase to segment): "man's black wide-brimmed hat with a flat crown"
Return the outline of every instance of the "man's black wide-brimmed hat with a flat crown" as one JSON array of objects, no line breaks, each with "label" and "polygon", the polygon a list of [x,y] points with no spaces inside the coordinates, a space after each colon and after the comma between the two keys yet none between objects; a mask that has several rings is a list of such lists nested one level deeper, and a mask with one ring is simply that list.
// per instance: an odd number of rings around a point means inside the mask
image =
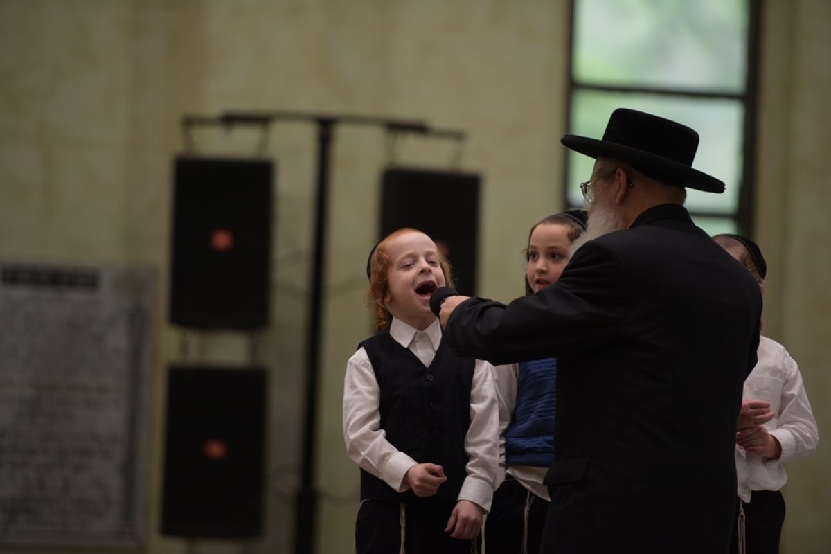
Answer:
[{"label": "man's black wide-brimmed hat with a flat crown", "polygon": [[698,133],[686,125],[642,111],[618,108],[612,112],[602,140],[563,135],[560,139],[580,154],[620,159],[652,179],[709,193],[723,193],[725,184],[692,169]]}]

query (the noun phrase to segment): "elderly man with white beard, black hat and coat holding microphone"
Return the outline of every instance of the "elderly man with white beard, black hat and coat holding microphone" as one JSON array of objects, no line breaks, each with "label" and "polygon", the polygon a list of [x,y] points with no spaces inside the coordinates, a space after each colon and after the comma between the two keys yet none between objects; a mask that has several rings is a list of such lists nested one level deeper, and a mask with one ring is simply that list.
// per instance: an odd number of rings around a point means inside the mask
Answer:
[{"label": "elderly man with white beard, black hat and coat holding microphone", "polygon": [[[434,292],[451,350],[506,364],[556,356],[554,462],[540,552],[728,552],[735,425],[761,297],[684,208],[698,134],[615,110],[581,184],[588,232],[560,280],[508,305]],[[487,547],[487,546],[486,546]]]}]

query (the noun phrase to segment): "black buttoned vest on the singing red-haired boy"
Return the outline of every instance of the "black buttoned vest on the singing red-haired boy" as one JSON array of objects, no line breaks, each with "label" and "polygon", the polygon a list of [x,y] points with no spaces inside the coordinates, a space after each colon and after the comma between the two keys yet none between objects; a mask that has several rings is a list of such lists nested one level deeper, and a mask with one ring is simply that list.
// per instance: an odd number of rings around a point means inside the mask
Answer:
[{"label": "black buttoned vest on the singing red-haired boy", "polygon": [[[465,435],[470,427],[470,384],[475,360],[450,352],[442,339],[430,367],[384,331],[361,342],[380,390],[381,429],[396,449],[418,463],[437,463],[447,481],[436,496],[455,503],[465,480]],[[361,469],[361,500],[405,502],[412,490],[396,493]]]}]

